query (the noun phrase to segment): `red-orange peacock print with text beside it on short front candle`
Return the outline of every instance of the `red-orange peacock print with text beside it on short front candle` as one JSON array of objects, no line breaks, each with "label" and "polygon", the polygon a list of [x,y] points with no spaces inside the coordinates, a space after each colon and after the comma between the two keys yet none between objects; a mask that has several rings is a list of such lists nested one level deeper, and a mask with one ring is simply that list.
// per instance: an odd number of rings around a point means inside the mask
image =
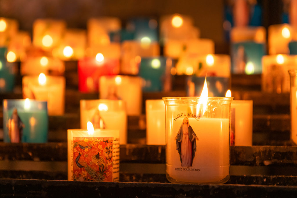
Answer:
[{"label": "red-orange peacock print with text beside it on short front candle", "polygon": [[73,137],[72,180],[119,181],[119,139]]}]

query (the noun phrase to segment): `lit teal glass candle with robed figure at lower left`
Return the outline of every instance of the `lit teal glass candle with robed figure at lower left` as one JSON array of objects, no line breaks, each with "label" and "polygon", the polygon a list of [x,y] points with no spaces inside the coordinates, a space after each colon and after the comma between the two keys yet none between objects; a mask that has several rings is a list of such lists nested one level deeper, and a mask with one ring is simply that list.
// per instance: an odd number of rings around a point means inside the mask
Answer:
[{"label": "lit teal glass candle with robed figure at lower left", "polygon": [[47,102],[29,99],[3,100],[3,131],[4,142],[47,142]]}]

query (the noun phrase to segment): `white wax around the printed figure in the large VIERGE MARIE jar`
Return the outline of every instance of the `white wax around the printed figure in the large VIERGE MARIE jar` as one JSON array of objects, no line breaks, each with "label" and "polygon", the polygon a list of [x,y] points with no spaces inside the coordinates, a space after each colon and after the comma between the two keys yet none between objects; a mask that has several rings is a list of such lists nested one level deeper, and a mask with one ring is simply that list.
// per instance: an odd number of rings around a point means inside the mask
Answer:
[{"label": "white wax around the printed figure in the large VIERGE MARIE jar", "polygon": [[[184,117],[177,120],[168,119],[166,138],[166,172],[179,182],[216,183],[229,175],[230,167],[230,133],[227,118],[189,118],[189,125],[196,136],[197,151],[191,167],[182,167],[174,140]],[[169,121],[170,120],[170,121]]]}]

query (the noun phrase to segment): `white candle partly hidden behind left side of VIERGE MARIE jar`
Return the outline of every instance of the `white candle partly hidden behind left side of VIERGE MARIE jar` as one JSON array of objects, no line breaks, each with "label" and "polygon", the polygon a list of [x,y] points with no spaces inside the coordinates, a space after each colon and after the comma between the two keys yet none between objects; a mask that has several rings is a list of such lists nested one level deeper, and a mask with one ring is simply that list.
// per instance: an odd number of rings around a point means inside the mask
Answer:
[{"label": "white candle partly hidden behind left side of VIERGE MARIE jar", "polygon": [[146,144],[165,145],[165,105],[163,100],[146,100]]}]

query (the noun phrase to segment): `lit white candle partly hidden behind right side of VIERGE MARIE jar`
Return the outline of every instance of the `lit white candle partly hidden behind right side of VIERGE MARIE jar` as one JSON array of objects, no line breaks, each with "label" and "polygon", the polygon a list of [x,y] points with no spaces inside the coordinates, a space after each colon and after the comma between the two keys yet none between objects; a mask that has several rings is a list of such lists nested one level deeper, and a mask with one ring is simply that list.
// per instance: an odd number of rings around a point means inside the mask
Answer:
[{"label": "lit white candle partly hidden behind right side of VIERGE MARIE jar", "polygon": [[[226,97],[231,97],[228,90]],[[253,143],[253,101],[233,100],[231,103],[231,146],[252,146]]]}]

